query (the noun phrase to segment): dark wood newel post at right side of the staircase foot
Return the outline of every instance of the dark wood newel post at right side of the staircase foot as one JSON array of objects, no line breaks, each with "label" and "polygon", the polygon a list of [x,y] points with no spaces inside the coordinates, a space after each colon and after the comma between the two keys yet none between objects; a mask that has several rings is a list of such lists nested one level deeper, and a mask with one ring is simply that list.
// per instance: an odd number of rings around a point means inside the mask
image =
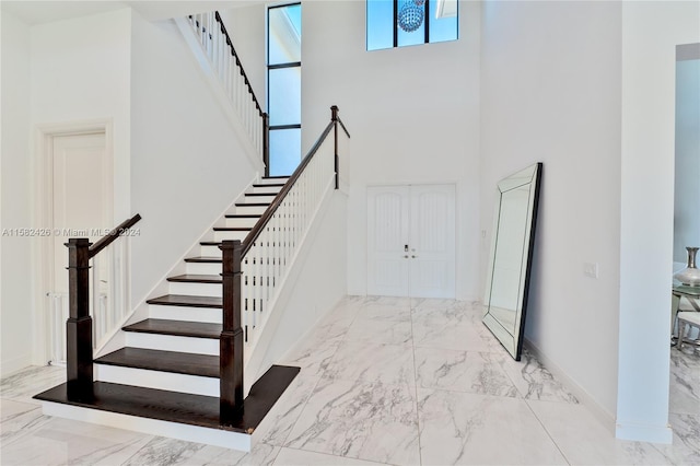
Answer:
[{"label": "dark wood newel post at right side of the staircase foot", "polygon": [[220,338],[220,416],[231,424],[243,408],[243,329],[241,328],[241,241],[222,242],[223,326]]}]

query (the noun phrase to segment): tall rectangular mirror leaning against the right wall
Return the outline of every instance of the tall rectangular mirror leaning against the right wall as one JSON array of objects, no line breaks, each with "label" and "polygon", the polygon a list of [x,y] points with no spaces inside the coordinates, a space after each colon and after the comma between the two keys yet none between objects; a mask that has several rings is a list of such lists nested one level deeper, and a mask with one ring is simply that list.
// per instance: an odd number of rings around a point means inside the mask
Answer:
[{"label": "tall rectangular mirror leaning against the right wall", "polygon": [[537,163],[501,179],[493,215],[483,324],[516,361],[523,350],[541,172]]}]

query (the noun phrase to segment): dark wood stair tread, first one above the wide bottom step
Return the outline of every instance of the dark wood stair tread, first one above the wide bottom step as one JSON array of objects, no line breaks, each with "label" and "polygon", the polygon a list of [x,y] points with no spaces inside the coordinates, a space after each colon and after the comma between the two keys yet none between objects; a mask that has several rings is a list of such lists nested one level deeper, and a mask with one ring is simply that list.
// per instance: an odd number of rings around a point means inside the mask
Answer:
[{"label": "dark wood stair tread, first one above the wide bottom step", "polygon": [[218,356],[130,347],[97,358],[95,363],[214,378],[219,377],[220,370]]}]

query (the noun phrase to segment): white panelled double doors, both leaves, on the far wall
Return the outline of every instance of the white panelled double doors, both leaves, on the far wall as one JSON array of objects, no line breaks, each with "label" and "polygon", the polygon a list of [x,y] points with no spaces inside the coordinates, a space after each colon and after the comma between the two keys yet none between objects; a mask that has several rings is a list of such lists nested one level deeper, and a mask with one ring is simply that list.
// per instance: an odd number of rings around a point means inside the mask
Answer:
[{"label": "white panelled double doors, both leaves, on the far wall", "polygon": [[455,298],[455,186],[368,188],[368,294]]}]

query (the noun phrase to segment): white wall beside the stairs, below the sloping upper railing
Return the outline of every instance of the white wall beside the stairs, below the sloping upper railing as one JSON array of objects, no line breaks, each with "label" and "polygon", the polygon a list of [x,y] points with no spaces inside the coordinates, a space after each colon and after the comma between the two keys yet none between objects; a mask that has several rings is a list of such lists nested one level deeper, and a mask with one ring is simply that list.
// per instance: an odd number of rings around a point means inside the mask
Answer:
[{"label": "white wall beside the stairs, below the sloping upper railing", "polygon": [[136,304],[255,176],[199,65],[172,21],[133,12],[131,203]]}]

